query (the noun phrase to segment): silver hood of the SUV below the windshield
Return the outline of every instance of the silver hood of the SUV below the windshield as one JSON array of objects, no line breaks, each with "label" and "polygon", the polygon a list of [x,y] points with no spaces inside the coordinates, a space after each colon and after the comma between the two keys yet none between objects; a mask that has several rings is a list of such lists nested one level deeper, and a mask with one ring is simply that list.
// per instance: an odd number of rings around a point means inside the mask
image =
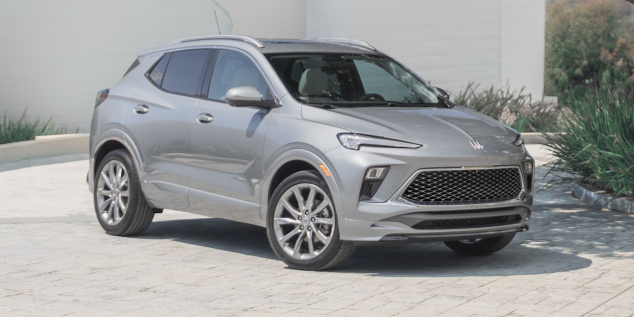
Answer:
[{"label": "silver hood of the SUV below the windshield", "polygon": [[[443,153],[456,148],[485,154],[517,153],[516,132],[497,120],[466,107],[356,107],[324,109],[305,106],[302,116],[345,131],[418,143]],[[342,131],[344,132],[344,131]],[[474,149],[477,140],[484,150]]]}]

